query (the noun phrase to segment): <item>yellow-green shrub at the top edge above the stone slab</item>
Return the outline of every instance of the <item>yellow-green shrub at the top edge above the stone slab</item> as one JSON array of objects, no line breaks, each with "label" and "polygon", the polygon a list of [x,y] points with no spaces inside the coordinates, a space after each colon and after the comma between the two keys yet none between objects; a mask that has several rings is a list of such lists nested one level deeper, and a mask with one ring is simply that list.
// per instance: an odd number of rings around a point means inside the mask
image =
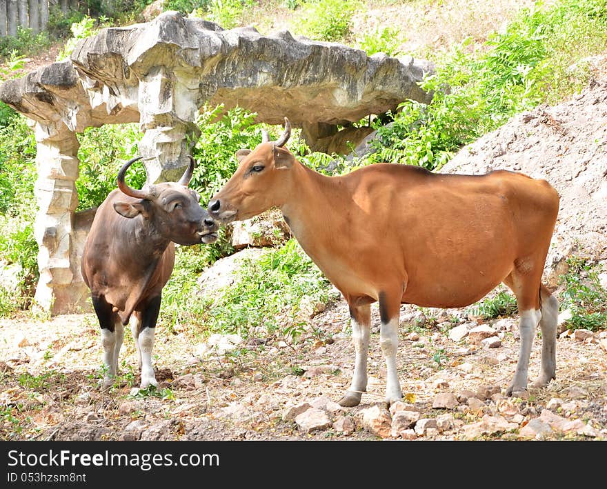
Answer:
[{"label": "yellow-green shrub at the top edge above the stone slab", "polygon": [[347,0],[308,1],[295,30],[318,41],[344,41],[351,33],[352,14],[360,5]]}]

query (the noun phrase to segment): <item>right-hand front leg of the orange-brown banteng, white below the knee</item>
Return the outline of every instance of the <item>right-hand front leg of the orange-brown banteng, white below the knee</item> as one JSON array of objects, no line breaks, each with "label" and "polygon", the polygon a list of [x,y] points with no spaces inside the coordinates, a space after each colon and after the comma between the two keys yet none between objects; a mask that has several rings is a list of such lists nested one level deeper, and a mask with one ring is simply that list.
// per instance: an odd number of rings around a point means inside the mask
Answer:
[{"label": "right-hand front leg of the orange-brown banteng, white below the knee", "polygon": [[386,292],[379,292],[379,318],[381,319],[379,345],[386,361],[386,403],[391,405],[403,398],[396,363],[400,295],[390,297]]}]

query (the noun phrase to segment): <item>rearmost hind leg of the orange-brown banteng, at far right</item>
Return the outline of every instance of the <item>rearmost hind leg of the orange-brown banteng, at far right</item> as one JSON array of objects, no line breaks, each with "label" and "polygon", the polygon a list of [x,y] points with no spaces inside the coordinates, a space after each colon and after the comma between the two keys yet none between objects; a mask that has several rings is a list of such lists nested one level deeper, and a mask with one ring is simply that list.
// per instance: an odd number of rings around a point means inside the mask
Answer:
[{"label": "rearmost hind leg of the orange-brown banteng, at far right", "polygon": [[541,367],[539,377],[531,385],[533,387],[546,387],[556,378],[557,371],[557,323],[559,317],[559,301],[552,295],[546,286],[539,288],[541,298]]}]

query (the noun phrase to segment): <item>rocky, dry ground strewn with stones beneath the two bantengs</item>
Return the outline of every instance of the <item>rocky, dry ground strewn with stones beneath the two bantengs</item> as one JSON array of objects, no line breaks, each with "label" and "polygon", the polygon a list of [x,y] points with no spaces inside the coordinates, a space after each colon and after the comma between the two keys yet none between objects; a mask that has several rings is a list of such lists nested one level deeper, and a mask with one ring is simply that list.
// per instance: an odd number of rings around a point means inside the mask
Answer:
[{"label": "rocky, dry ground strewn with stones beneath the two bantengs", "polygon": [[[159,389],[139,392],[125,337],[116,387],[97,386],[101,345],[94,315],[0,322],[2,439],[40,440],[470,440],[607,439],[607,332],[564,332],[557,378],[526,399],[504,395],[519,349],[517,318],[483,323],[464,310],[403,306],[399,379],[404,399],[384,404],[379,317],[373,312],[368,392],[348,388],[354,348],[338,301],[310,320],[303,341],[192,335],[159,326]],[[457,325],[457,326],[455,326]],[[540,340],[530,375],[539,372]]]}]

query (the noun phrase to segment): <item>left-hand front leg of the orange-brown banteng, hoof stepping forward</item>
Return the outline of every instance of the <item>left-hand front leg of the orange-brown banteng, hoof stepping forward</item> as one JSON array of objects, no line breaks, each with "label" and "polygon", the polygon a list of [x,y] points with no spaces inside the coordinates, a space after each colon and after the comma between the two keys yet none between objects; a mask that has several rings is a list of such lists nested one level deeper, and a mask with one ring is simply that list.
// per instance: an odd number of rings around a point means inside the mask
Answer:
[{"label": "left-hand front leg of the orange-brown banteng, hoof stepping forward", "polygon": [[367,391],[367,357],[369,354],[369,334],[371,329],[371,305],[350,305],[350,325],[352,342],[356,352],[354,375],[350,389],[339,399],[339,405],[345,408],[358,406],[362,393]]}]

